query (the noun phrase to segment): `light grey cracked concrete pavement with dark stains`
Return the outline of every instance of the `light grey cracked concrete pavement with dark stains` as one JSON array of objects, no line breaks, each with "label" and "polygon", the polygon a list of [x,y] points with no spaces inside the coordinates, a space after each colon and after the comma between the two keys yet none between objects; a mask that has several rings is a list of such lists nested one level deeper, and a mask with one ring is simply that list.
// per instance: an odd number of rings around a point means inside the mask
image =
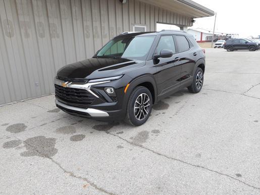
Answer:
[{"label": "light grey cracked concrete pavement with dark stains", "polygon": [[54,95],[0,107],[0,193],[260,194],[260,51],[206,49],[140,127],[70,116]]}]

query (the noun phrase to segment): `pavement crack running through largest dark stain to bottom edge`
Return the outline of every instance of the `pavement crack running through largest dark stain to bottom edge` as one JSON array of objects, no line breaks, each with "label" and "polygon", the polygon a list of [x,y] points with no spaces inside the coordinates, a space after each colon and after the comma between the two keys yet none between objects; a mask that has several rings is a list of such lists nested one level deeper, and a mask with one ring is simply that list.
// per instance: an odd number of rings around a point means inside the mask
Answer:
[{"label": "pavement crack running through largest dark stain to bottom edge", "polygon": [[[20,141],[23,141],[22,139],[14,136],[16,139],[20,140]],[[77,179],[80,179],[80,180],[83,180],[83,181],[86,181],[89,185],[91,185],[94,189],[98,190],[98,191],[101,191],[103,193],[107,193],[107,194],[111,194],[111,195],[116,195],[115,193],[112,193],[112,192],[109,192],[107,191],[106,189],[103,189],[101,187],[98,187],[96,184],[94,184],[93,182],[91,182],[90,180],[88,180],[87,178],[85,177],[81,177],[81,176],[77,176],[75,175],[72,171],[67,171],[65,168],[62,167],[62,165],[60,163],[58,163],[57,161],[55,161],[53,158],[50,158],[48,156],[46,156],[45,154],[42,154],[40,153],[37,148],[35,148],[33,145],[29,144],[28,142],[26,141],[23,141],[25,143],[27,143],[28,145],[30,145],[30,147],[34,148],[35,151],[37,153],[39,153],[40,155],[43,155],[45,158],[49,159],[51,162],[55,163],[58,167],[60,167],[60,169],[62,169],[64,171],[64,173],[67,173],[69,174],[71,177],[74,177],[74,178],[77,178]]]}]

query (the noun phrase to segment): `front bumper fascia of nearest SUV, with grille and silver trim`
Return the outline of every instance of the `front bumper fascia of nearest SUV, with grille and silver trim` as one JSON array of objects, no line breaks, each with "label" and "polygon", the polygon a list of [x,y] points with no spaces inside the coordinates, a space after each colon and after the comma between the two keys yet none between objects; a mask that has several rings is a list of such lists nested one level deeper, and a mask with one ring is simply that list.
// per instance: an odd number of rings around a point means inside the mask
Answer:
[{"label": "front bumper fascia of nearest SUV, with grille and silver trim", "polygon": [[[118,79],[91,83],[68,82],[55,78],[55,85],[63,87],[62,91],[59,91],[59,88],[56,87],[56,106],[62,111],[75,116],[94,118],[100,121],[120,121],[125,117],[124,105],[126,105],[127,100],[125,99],[123,86],[128,82],[128,77],[125,78],[125,81]],[[108,96],[103,90],[105,87],[115,88],[116,99],[112,100]],[[59,93],[57,93],[57,90]],[[85,94],[84,91],[91,94]],[[61,92],[63,93],[62,96]],[[82,93],[83,96],[90,95],[92,101],[81,102]]]}]

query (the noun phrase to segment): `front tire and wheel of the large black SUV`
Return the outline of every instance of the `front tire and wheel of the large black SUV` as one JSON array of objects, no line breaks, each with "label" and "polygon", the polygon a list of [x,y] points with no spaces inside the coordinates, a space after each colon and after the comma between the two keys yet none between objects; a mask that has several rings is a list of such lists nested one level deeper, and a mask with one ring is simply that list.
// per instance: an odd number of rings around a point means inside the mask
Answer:
[{"label": "front tire and wheel of the large black SUV", "polygon": [[151,108],[151,92],[146,87],[137,86],[129,97],[125,121],[129,125],[140,126],[148,120]]}]

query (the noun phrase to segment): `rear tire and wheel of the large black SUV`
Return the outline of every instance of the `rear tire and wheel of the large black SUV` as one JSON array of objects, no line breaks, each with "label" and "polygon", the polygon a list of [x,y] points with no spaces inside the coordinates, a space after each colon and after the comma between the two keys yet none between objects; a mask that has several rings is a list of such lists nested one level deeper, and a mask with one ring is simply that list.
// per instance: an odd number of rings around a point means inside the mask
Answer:
[{"label": "rear tire and wheel of the large black SUV", "polygon": [[201,68],[197,68],[194,77],[193,77],[193,82],[190,86],[188,86],[188,90],[191,93],[198,93],[203,85],[204,81],[204,73]]}]

